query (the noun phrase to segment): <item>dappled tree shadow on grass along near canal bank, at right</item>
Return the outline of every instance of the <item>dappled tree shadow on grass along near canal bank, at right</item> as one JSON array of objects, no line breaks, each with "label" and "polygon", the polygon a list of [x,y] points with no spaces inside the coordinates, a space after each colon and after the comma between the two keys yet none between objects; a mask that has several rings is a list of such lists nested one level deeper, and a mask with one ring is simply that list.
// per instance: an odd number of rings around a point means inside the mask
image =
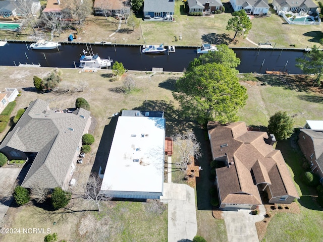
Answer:
[{"label": "dappled tree shadow on grass along near canal bank, at right", "polygon": [[307,92],[313,85],[313,81],[309,80],[307,75],[260,75],[256,78],[271,86],[283,87],[299,92]]}]

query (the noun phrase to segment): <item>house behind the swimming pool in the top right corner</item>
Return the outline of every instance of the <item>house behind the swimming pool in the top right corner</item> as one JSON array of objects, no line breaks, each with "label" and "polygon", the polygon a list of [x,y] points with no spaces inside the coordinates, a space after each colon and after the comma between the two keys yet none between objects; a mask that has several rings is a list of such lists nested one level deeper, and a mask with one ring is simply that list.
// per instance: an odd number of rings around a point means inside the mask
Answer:
[{"label": "house behind the swimming pool in the top right corner", "polygon": [[312,0],[273,0],[273,8],[277,12],[314,13],[317,5]]}]

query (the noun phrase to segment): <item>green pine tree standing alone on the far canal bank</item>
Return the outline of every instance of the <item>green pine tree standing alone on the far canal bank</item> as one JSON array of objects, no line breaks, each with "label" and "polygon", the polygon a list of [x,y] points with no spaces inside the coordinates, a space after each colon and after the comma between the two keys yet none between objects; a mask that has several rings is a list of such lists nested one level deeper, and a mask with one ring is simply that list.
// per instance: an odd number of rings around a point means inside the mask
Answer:
[{"label": "green pine tree standing alone on the far canal bank", "polygon": [[235,31],[233,39],[239,35],[247,35],[252,27],[249,16],[242,9],[232,13],[233,18],[229,19],[227,30]]}]

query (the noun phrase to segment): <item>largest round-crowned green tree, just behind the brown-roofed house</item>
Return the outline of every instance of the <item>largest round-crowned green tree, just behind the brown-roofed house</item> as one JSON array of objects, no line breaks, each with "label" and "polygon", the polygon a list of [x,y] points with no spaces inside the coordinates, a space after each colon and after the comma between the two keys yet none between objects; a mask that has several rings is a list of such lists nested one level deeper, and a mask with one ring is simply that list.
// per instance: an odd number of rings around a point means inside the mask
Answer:
[{"label": "largest round-crowned green tree, just behind the brown-roofed house", "polygon": [[217,63],[185,72],[176,82],[176,91],[173,96],[181,104],[184,115],[200,124],[207,120],[222,124],[236,121],[239,108],[248,98],[235,69]]}]

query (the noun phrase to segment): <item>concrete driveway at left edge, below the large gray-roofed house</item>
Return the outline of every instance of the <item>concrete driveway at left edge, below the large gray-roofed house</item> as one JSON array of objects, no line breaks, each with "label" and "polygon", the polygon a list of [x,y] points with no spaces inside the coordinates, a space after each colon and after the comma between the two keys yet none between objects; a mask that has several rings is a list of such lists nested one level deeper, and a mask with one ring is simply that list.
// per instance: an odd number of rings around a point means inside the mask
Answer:
[{"label": "concrete driveway at left edge, below the large gray-roofed house", "polygon": [[[6,181],[6,184],[14,184],[15,180],[17,179],[19,173],[21,171],[21,168],[4,168],[0,167],[0,184],[4,184]],[[12,201],[7,202],[0,202],[0,219],[2,219],[5,214],[7,213],[7,210],[10,206]]]}]

